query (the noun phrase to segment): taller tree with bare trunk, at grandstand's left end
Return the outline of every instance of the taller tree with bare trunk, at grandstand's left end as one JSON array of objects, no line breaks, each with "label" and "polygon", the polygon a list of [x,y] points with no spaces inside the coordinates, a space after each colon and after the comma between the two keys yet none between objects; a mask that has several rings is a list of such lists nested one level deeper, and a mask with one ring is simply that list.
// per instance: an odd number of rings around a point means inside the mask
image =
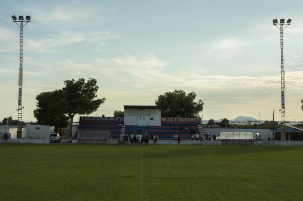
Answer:
[{"label": "taller tree with bare trunk, at grandstand's left end", "polygon": [[70,136],[72,137],[73,120],[76,114],[89,115],[96,111],[105,102],[104,98],[97,98],[97,81],[89,78],[87,82],[83,78],[78,80],[66,80],[62,88],[66,95],[66,114],[70,120]]}]

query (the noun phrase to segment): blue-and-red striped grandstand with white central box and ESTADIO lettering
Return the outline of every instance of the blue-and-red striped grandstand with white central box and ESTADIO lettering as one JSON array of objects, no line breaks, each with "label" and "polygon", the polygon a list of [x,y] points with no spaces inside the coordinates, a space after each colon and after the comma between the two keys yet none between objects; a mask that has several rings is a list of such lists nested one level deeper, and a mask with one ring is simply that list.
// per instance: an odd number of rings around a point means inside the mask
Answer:
[{"label": "blue-and-red striped grandstand with white central box and ESTADIO lettering", "polygon": [[74,139],[99,138],[120,134],[157,135],[160,139],[173,139],[180,134],[182,139],[190,139],[193,133],[203,135],[200,118],[161,117],[158,106],[124,106],[124,117],[79,117]]}]

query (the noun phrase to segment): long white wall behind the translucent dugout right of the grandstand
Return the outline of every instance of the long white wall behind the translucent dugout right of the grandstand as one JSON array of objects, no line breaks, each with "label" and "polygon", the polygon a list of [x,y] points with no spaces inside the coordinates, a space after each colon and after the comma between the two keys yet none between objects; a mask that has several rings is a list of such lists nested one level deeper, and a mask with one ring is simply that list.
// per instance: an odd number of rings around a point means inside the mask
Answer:
[{"label": "long white wall behind the translucent dugout right of the grandstand", "polygon": [[[269,129],[237,129],[237,128],[205,128],[205,132],[208,132],[210,136],[220,135],[220,132],[253,132],[259,133],[262,140],[268,140],[268,131]],[[269,133],[269,137],[273,140],[273,133]]]}]

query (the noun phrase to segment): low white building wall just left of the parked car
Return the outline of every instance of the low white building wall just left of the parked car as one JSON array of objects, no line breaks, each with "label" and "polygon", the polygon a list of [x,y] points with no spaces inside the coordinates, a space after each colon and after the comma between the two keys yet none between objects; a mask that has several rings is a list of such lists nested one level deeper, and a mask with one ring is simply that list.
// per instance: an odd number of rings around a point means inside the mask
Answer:
[{"label": "low white building wall just left of the parked car", "polygon": [[26,125],[27,136],[32,138],[48,138],[54,130],[54,126]]}]

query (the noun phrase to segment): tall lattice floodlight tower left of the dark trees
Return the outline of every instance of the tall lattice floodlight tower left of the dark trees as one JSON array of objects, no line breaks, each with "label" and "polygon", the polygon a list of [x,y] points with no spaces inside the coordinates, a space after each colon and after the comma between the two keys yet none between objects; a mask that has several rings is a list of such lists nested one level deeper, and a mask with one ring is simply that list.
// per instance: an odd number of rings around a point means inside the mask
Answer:
[{"label": "tall lattice floodlight tower left of the dark trees", "polygon": [[[20,62],[19,62],[19,76],[18,76],[18,131],[17,131],[17,138],[22,137],[22,82],[23,82],[23,27],[27,23],[30,22],[30,16],[24,17],[22,15],[19,16],[19,20],[17,21],[17,17],[14,15],[12,16],[13,22],[15,22],[20,27]],[[24,24],[25,22],[25,24]]]}]

